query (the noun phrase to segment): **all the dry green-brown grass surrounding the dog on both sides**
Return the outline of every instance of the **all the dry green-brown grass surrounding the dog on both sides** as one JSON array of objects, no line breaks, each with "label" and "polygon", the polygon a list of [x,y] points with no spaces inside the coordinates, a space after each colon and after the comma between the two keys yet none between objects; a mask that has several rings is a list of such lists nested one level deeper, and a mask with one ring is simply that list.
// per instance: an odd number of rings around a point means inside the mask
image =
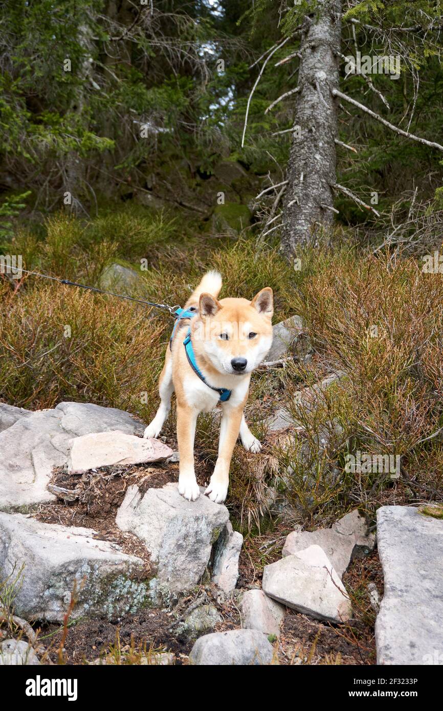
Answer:
[{"label": "all the dry green-brown grass surrounding the dog on both sides", "polygon": [[[243,531],[269,525],[268,489],[276,484],[296,518],[311,527],[356,505],[373,513],[393,498],[441,499],[441,275],[422,273],[414,257],[393,260],[340,246],[337,235],[333,250],[302,252],[301,270],[294,271],[272,245],[257,254],[252,238],[220,244],[201,232],[178,235],[178,226],[171,216],[146,210],[124,209],[90,223],[55,215],[38,230],[18,231],[11,252],[22,254],[27,268],[90,284],[110,260],[137,268],[137,258],[145,258],[132,295],[169,304],[183,304],[202,272],[215,267],[223,273],[222,295],[252,297],[270,285],[274,321],[303,316],[314,365],[252,378],[247,415],[255,434],[265,439],[262,420],[282,399],[303,431],[277,445],[268,437],[260,455],[236,448],[229,502]],[[33,277],[15,287],[0,282],[0,400],[30,409],[92,401],[149,421],[169,316]],[[346,375],[300,407],[299,388],[331,369]],[[168,433],[174,434],[173,418]],[[201,417],[196,449],[208,468],[217,439],[218,423]],[[346,473],[345,456],[358,449],[400,456],[400,479]]]}]

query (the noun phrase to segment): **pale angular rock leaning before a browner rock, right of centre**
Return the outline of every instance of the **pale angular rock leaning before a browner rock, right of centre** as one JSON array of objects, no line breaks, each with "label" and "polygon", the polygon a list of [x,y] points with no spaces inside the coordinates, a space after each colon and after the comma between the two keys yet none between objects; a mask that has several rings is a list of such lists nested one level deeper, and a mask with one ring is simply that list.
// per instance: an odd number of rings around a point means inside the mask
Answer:
[{"label": "pale angular rock leaning before a browner rock, right of centre", "polygon": [[278,602],[317,619],[338,623],[352,614],[343,583],[318,545],[266,565],[262,587]]}]

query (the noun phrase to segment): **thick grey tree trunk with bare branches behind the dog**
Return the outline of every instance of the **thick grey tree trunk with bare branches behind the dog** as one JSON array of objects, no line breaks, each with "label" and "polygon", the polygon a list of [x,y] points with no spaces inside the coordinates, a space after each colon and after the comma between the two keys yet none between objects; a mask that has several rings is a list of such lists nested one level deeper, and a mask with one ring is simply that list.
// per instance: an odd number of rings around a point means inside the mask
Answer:
[{"label": "thick grey tree trunk with bare branches behind the dog", "polygon": [[319,225],[333,212],[331,184],[336,182],[337,112],[331,90],[338,89],[337,53],[341,44],[341,0],[319,0],[301,32],[299,92],[287,166],[282,251],[291,257],[299,245],[316,242]]}]

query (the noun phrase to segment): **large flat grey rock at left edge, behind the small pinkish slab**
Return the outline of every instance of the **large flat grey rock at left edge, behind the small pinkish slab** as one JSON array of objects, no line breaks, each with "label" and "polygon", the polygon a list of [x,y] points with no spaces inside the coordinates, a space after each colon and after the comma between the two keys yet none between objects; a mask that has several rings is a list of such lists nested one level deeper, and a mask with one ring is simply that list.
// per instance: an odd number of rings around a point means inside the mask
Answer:
[{"label": "large flat grey rock at left edge, behind the small pinkish slab", "polygon": [[55,501],[46,484],[53,467],[66,464],[70,439],[110,429],[138,434],[144,427],[114,407],[60,402],[54,410],[30,412],[0,432],[0,510],[26,513]]}]

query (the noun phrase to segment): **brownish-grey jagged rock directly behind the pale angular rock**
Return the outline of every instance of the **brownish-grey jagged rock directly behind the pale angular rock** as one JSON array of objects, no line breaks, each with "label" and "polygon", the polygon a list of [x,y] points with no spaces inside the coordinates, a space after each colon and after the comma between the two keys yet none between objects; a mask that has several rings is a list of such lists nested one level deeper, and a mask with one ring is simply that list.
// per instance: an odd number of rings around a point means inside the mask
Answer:
[{"label": "brownish-grey jagged rock directly behind the pale angular rock", "polygon": [[375,535],[368,533],[365,517],[355,509],[336,521],[332,528],[289,533],[282,556],[294,555],[310,545],[319,545],[342,577],[354,557],[361,557],[373,550]]}]

